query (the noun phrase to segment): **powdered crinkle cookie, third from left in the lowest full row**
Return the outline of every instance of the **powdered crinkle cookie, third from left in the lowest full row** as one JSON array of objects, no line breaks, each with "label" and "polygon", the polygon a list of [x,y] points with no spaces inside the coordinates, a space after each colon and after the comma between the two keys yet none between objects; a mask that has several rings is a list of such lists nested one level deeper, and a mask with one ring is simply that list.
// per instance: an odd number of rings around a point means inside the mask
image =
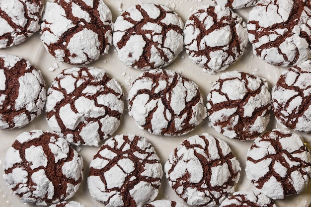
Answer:
[{"label": "powdered crinkle cookie, third from left in the lowest full row", "polygon": [[218,207],[234,192],[240,166],[230,146],[209,134],[185,139],[169,155],[169,185],[191,206]]}]

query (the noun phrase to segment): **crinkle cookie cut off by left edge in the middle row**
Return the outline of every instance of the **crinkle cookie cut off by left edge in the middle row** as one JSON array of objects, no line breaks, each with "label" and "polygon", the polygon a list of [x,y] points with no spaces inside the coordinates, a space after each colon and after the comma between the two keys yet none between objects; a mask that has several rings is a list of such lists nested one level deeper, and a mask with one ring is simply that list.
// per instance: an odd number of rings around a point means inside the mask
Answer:
[{"label": "crinkle cookie cut off by left edge in the middle row", "polygon": [[45,100],[41,72],[23,58],[0,54],[0,129],[29,124],[41,114]]}]

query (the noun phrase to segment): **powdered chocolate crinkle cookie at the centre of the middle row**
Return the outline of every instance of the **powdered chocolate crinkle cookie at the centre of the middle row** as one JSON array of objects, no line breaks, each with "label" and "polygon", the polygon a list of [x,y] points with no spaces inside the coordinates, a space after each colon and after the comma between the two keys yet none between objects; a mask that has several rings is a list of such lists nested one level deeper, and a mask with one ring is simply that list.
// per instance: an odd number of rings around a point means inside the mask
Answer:
[{"label": "powdered chocolate crinkle cookie at the centre of the middle row", "polygon": [[129,115],[151,134],[187,134],[206,117],[199,87],[172,70],[142,73],[129,90]]}]

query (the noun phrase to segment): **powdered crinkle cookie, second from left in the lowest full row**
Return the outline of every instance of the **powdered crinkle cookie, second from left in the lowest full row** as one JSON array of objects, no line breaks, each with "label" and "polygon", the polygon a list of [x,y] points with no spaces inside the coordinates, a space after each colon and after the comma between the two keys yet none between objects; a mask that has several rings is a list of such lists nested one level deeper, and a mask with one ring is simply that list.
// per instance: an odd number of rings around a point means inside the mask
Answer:
[{"label": "powdered crinkle cookie, second from left in the lowest full row", "polygon": [[87,186],[105,207],[141,207],[156,198],[162,175],[155,148],[146,138],[118,135],[97,151]]}]

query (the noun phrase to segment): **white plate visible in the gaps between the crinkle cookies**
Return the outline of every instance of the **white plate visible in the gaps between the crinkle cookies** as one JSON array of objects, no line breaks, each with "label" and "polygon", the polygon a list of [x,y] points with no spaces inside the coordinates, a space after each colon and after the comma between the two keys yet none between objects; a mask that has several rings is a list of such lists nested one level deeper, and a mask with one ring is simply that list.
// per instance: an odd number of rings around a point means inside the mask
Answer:
[{"label": "white plate visible in the gaps between the crinkle cookies", "polygon": [[[211,0],[104,0],[105,3],[110,7],[113,13],[113,21],[115,21],[116,17],[128,7],[135,5],[139,2],[154,2],[164,4],[170,8],[175,9],[175,11],[182,17],[185,22],[187,17],[191,14],[193,9],[202,4],[213,4]],[[239,9],[236,10],[244,20],[247,20],[248,11],[250,8]],[[57,62],[48,52],[45,51],[43,44],[40,41],[40,36],[38,33],[34,34],[24,43],[6,49],[0,49],[0,53],[7,53],[12,55],[17,55],[29,60],[37,69],[40,69],[43,73],[43,76],[46,81],[46,87],[48,88],[54,79],[54,77],[62,71],[62,69],[72,68],[72,65],[69,64],[61,64]],[[57,63],[59,68],[55,71],[49,71],[50,67],[54,67],[54,63]],[[105,69],[107,74],[111,77],[116,78],[120,84],[123,86],[124,93],[127,94],[130,83],[137,77],[142,70],[128,68],[123,65],[117,58],[115,48],[111,47],[109,50],[109,55],[105,55],[101,57],[98,61],[87,65],[87,67],[94,66],[101,69]],[[209,74],[202,70],[202,68],[196,66],[188,59],[188,55],[185,51],[183,51],[177,60],[172,63],[167,69],[172,69],[175,71],[181,72],[183,75],[195,81],[201,90],[201,93],[204,97],[204,101],[206,102],[206,96],[209,93],[212,83],[218,79],[220,72],[217,74]],[[251,51],[251,46],[248,45],[244,55],[229,69],[225,71],[231,70],[241,70],[249,73],[257,74],[263,78],[265,78],[269,83],[269,88],[276,83],[277,78],[280,73],[284,71],[286,68],[280,68],[268,65],[253,56]],[[126,96],[125,96],[126,97]],[[280,128],[280,126],[276,123],[274,116],[271,116],[271,120],[267,131],[270,131],[275,128]],[[6,149],[13,143],[16,136],[25,131],[30,131],[34,129],[41,129],[43,131],[50,130],[47,122],[45,120],[45,113],[42,113],[38,118],[36,118],[32,123],[28,126],[23,127],[21,129],[15,129],[11,131],[0,130],[0,206],[1,207],[34,207],[34,205],[24,205],[20,202],[17,196],[13,196],[11,191],[5,186],[4,181],[2,179],[2,164]],[[139,130],[132,119],[129,117],[127,113],[127,102],[125,104],[125,112],[123,114],[120,128],[117,130],[115,135],[119,134],[135,134],[142,137],[145,137],[150,140],[150,142],[155,146],[156,152],[161,159],[161,163],[164,164],[168,158],[168,154],[173,151],[173,149],[180,144],[185,138],[188,138],[193,135],[201,135],[202,133],[209,133],[214,137],[224,139],[227,141],[231,148],[233,149],[234,155],[240,162],[242,171],[240,180],[236,186],[236,190],[251,190],[254,189],[253,185],[246,178],[244,173],[245,168],[245,158],[247,149],[252,144],[252,141],[238,141],[232,140],[230,138],[226,138],[221,134],[217,133],[213,128],[209,127],[207,119],[203,121],[201,125],[199,125],[194,131],[185,136],[180,137],[159,137],[155,135],[151,135],[148,132]],[[301,134],[307,143],[311,140],[311,135],[309,134]],[[102,141],[101,143],[103,143]],[[310,148],[310,147],[309,147]],[[84,180],[81,183],[81,186],[76,193],[76,195],[71,199],[80,202],[85,207],[102,207],[103,205],[97,201],[95,201],[92,197],[90,197],[89,192],[87,190],[86,185],[86,177],[88,175],[88,166],[93,157],[93,155],[98,150],[98,147],[87,147],[82,146],[80,150],[80,154],[84,159]],[[162,186],[160,188],[158,197],[156,199],[167,199],[173,201],[182,200],[176,196],[174,191],[169,187],[165,176],[162,179]],[[284,200],[277,200],[275,203],[279,207],[309,207],[311,204],[311,185],[309,185],[308,189],[305,190],[300,195],[289,196]]]}]

